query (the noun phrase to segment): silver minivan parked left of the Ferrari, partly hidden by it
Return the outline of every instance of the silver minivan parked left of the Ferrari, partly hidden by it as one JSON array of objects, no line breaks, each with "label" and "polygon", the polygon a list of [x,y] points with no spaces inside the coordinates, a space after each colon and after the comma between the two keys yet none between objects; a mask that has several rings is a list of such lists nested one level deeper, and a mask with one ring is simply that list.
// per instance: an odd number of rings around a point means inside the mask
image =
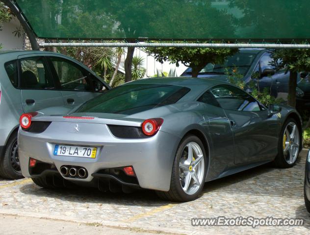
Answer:
[{"label": "silver minivan parked left of the Ferrari, partly hidden by it", "polygon": [[46,51],[0,51],[0,177],[22,178],[19,118],[52,106],[76,107],[110,89],[78,61]]}]

